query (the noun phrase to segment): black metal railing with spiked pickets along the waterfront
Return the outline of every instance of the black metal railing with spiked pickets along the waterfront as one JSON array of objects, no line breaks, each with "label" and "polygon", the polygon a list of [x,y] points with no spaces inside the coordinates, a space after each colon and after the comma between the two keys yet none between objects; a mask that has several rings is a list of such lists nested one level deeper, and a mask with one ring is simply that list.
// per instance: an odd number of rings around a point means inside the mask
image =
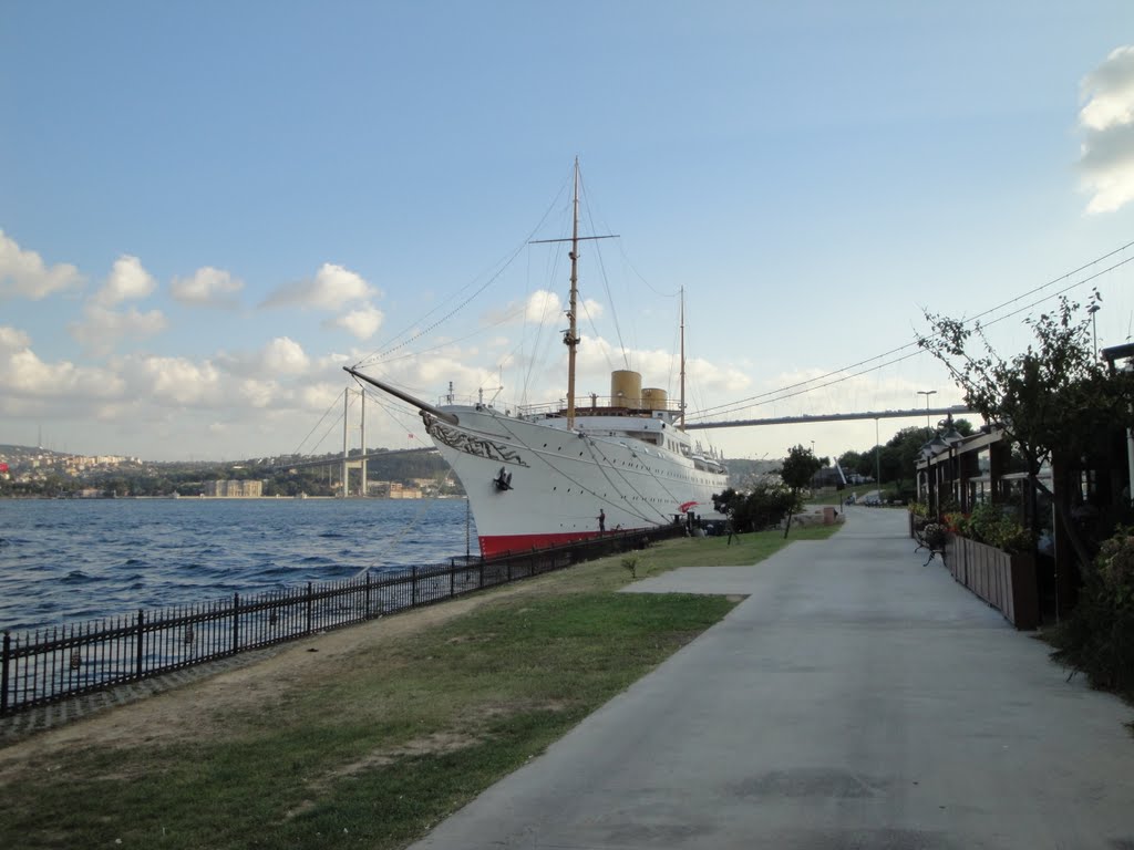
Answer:
[{"label": "black metal railing with spiked pickets along the waterfront", "polygon": [[608,534],[553,549],[406,567],[136,614],[3,632],[0,715],[564,569],[684,534]]}]

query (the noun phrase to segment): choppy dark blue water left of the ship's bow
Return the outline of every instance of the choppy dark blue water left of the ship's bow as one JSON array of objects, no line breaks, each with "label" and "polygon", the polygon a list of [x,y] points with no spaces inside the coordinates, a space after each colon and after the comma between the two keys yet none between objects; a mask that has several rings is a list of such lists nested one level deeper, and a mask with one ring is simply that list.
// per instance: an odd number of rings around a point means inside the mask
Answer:
[{"label": "choppy dark blue water left of the ship's bow", "polygon": [[465,539],[464,500],[0,500],[0,630],[447,561]]}]

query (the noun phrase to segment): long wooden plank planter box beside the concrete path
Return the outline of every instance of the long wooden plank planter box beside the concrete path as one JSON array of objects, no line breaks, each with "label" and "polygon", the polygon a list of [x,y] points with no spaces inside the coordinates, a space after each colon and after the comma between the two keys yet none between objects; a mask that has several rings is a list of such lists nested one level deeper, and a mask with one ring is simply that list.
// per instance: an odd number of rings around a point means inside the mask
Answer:
[{"label": "long wooden plank planter box beside the concrete path", "polygon": [[1017,629],[1040,623],[1035,584],[1035,559],[951,535],[946,544],[946,566],[953,577],[1005,615]]}]

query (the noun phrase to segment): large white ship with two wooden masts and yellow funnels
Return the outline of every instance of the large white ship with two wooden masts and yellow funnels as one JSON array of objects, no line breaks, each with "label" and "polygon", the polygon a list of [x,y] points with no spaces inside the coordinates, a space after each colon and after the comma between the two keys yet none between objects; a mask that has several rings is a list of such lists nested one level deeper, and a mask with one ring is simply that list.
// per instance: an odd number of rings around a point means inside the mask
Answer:
[{"label": "large white ship with two wooden masts and yellow funnels", "polygon": [[[611,375],[610,397],[575,401],[578,163],[570,252],[566,403],[497,409],[491,403],[431,405],[352,367],[359,381],[421,411],[425,430],[468,495],[484,558],[543,549],[619,530],[669,525],[712,510],[728,486],[721,459],[684,430],[682,398],[642,386],[636,372]],[[684,320],[682,322],[684,331]],[[683,338],[684,339],[684,338]]]}]

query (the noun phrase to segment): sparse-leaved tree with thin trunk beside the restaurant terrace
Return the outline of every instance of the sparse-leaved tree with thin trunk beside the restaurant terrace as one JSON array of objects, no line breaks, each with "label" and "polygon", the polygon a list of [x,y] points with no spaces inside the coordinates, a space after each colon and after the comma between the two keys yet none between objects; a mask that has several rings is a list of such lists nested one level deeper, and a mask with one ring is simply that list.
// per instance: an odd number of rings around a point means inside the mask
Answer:
[{"label": "sparse-leaved tree with thin trunk beside the restaurant terrace", "polygon": [[[1093,292],[1090,304],[1099,300]],[[1035,341],[1010,359],[996,352],[979,322],[970,325],[928,312],[933,335],[919,337],[917,343],[946,365],[965,403],[1014,444],[1032,486],[1052,496],[1085,568],[1091,553],[1067,504],[1040,481],[1040,468],[1055,454],[1080,457],[1115,423],[1127,422],[1132,380],[1129,373],[1110,373],[1095,359],[1090,311],[1076,318],[1078,311],[1078,304],[1060,297],[1057,309],[1026,320]]]}]

